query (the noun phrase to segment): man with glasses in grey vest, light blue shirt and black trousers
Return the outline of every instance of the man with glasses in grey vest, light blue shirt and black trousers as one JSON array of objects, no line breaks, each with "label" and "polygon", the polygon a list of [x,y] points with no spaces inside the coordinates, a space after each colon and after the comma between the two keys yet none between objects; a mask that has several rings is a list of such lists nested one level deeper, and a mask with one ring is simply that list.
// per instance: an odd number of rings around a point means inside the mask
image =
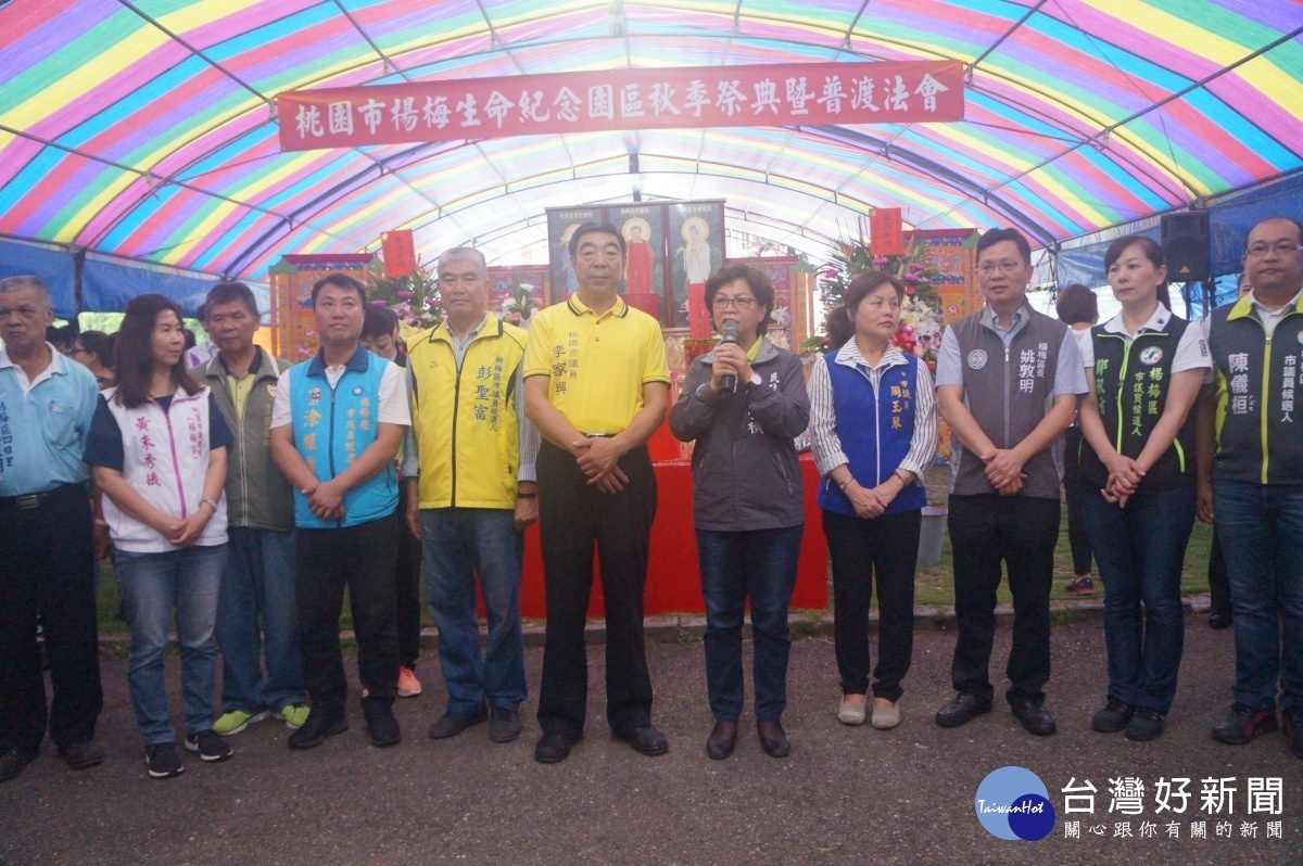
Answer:
[{"label": "man with glasses in grey vest, light blue shirt and black trousers", "polygon": [[937,359],[937,402],[954,435],[950,543],[959,641],[950,678],[959,693],[937,712],[955,728],[990,711],[990,649],[1001,561],[1014,595],[1014,646],[1005,693],[1035,734],[1052,734],[1050,585],[1059,530],[1063,431],[1085,371],[1067,327],[1027,302],[1031,247],[1015,229],[977,242],[986,307],[946,328]]}]

